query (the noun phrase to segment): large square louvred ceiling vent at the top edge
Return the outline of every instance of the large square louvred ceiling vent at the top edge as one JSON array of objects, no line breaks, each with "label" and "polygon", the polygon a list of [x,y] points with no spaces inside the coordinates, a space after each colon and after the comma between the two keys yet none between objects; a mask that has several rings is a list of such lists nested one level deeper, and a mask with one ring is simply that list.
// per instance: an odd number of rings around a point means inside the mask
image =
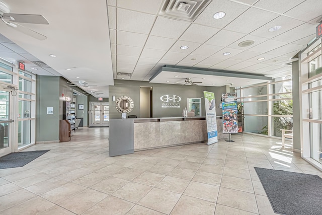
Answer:
[{"label": "large square louvred ceiling vent at the top edge", "polygon": [[211,0],[165,0],[159,15],[193,21],[211,2]]}]

